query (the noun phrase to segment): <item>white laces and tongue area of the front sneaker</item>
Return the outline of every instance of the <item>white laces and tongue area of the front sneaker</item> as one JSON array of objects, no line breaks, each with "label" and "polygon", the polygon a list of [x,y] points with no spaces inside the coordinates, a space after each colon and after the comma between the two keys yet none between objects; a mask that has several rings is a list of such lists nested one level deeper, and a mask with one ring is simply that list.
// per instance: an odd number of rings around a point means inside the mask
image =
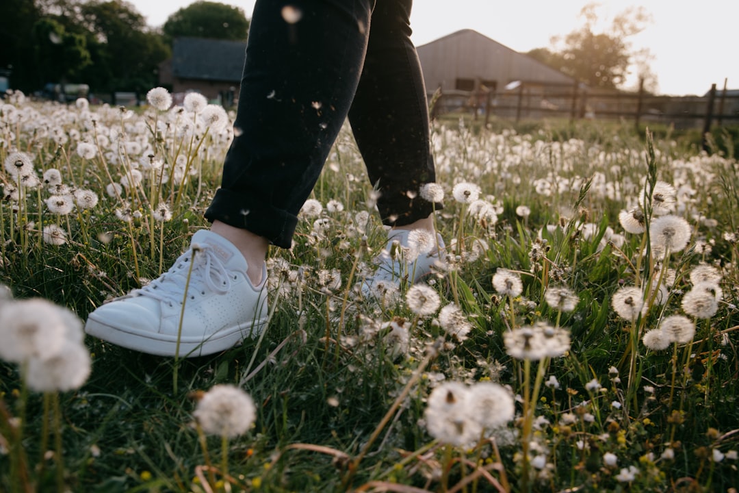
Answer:
[{"label": "white laces and tongue area of the front sneaker", "polygon": [[[190,262],[193,264],[188,285]],[[200,292],[202,295],[208,290],[223,294],[231,289],[231,275],[210,245],[189,249],[168,271],[132,294],[149,296],[171,306],[183,302],[185,289],[188,293]]]}]

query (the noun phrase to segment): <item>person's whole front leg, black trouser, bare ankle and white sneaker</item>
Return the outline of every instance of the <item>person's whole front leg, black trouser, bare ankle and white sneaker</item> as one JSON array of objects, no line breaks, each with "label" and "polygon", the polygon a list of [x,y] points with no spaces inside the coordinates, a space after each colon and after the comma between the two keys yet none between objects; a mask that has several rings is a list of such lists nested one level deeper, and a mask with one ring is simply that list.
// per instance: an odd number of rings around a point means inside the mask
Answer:
[{"label": "person's whole front leg, black trouser, bare ankle and white sneaker", "polygon": [[374,0],[259,0],[234,143],[206,217],[172,268],[90,314],[92,336],[201,356],[267,324],[268,243],[289,247],[358,84]]}]

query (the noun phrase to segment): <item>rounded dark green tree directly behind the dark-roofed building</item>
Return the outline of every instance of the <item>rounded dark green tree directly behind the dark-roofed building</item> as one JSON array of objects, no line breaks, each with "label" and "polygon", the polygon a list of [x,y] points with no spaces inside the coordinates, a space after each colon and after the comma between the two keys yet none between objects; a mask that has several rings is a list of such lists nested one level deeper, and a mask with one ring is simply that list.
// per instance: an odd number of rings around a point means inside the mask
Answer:
[{"label": "rounded dark green tree directly behind the dark-roofed building", "polygon": [[179,36],[242,41],[246,39],[249,21],[239,7],[196,1],[169,16],[162,30],[170,42]]}]

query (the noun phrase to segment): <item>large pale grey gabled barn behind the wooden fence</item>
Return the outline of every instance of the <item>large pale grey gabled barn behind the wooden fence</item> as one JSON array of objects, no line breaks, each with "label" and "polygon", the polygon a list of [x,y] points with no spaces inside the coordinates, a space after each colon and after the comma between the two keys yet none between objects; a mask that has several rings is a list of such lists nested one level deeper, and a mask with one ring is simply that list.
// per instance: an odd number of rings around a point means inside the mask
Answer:
[{"label": "large pale grey gabled barn behind the wooden fence", "polygon": [[[514,98],[516,91],[522,90],[529,100],[535,100],[535,105],[553,110],[567,104],[562,96],[576,87],[576,81],[568,75],[471,29],[443,36],[417,50],[426,90],[432,93],[441,89],[444,95],[458,95],[459,106],[469,106],[464,98],[469,100],[470,93],[480,101],[491,93],[495,105],[505,103],[508,94]],[[454,105],[454,98],[445,101],[447,106]],[[529,106],[531,103],[528,101]]]}]

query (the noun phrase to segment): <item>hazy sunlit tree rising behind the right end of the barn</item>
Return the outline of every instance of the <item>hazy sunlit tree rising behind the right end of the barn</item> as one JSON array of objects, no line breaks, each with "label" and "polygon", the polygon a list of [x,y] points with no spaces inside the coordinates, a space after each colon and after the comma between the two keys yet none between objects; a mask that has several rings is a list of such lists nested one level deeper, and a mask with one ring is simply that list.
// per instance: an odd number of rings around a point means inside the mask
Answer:
[{"label": "hazy sunlit tree rising behind the right end of the barn", "polygon": [[598,4],[587,4],[580,11],[585,25],[564,38],[554,38],[559,50],[540,48],[529,52],[534,58],[550,65],[591,87],[614,89],[624,84],[629,68],[639,55],[640,72],[650,73],[644,65],[644,50],[632,52],[628,38],[644,30],[650,16],[644,7],[630,7],[613,18],[602,32],[596,32]]}]

